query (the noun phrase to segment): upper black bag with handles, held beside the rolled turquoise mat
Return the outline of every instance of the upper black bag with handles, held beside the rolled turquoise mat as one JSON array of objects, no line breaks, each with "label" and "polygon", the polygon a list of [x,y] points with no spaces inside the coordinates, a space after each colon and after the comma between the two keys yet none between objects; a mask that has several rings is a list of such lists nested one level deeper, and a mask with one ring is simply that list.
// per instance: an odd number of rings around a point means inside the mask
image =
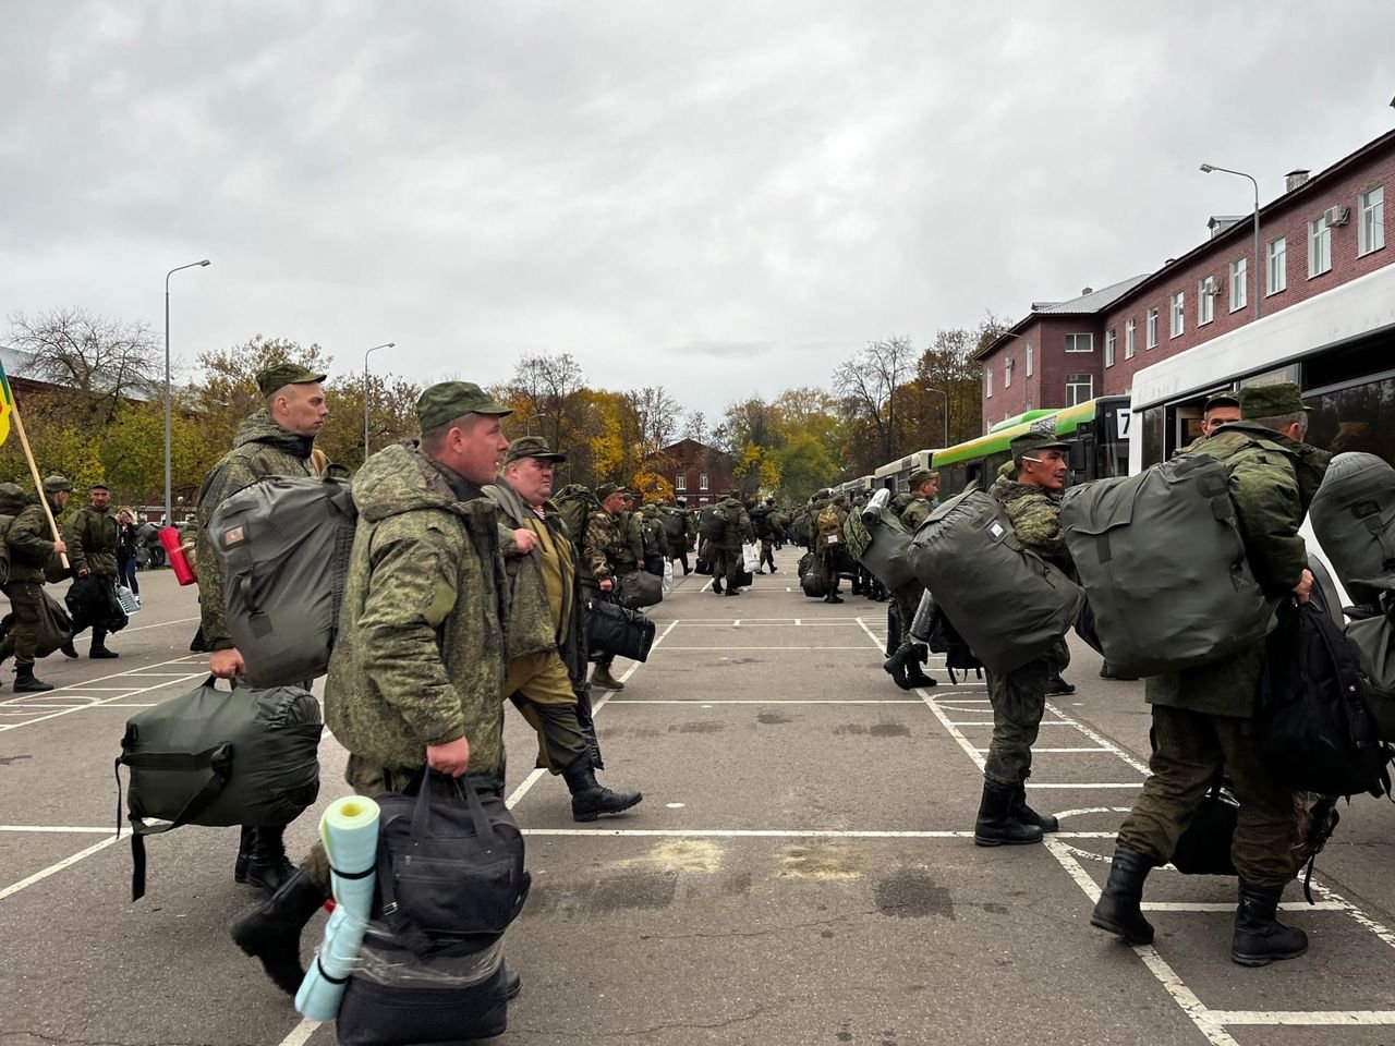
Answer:
[{"label": "upper black bag with handles, held beside the rolled turquoise mat", "polygon": [[[420,960],[492,944],[523,911],[523,834],[504,799],[434,771],[378,796],[372,919]],[[410,789],[412,785],[409,785]]]}]

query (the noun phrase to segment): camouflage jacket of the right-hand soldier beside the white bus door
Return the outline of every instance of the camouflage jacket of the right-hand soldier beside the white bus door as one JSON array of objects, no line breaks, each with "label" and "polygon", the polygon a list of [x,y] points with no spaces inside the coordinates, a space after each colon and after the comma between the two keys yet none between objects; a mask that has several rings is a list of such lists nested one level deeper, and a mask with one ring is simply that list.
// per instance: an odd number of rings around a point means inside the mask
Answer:
[{"label": "camouflage jacket of the right-hand soldier beside the white bus door", "polygon": [[[1193,445],[1230,473],[1230,498],[1254,579],[1271,598],[1293,591],[1307,566],[1299,527],[1332,455],[1253,421],[1232,421]],[[1152,676],[1144,696],[1154,704],[1250,718],[1260,692],[1264,643],[1184,672]]]}]

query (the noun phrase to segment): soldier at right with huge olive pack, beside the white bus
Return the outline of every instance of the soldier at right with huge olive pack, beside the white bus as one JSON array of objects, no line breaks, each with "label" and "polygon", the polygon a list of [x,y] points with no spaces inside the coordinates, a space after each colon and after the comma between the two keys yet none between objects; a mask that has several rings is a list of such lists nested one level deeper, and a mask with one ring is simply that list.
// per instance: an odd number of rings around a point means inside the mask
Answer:
[{"label": "soldier at right with huge olive pack, beside the white bus", "polygon": [[[1313,573],[1299,527],[1331,455],[1303,442],[1307,407],[1297,385],[1240,392],[1243,421],[1218,427],[1194,445],[1223,462],[1240,520],[1246,559],[1264,594],[1307,602]],[[1225,580],[1218,582],[1225,584]],[[1221,661],[1147,681],[1154,752],[1143,794],[1119,828],[1109,881],[1091,923],[1133,944],[1152,940],[1143,916],[1144,879],[1172,859],[1202,796],[1225,768],[1240,801],[1230,856],[1240,876],[1240,904],[1230,958],[1246,967],[1296,958],[1307,936],[1275,912],[1297,872],[1293,795],[1261,761],[1253,717],[1264,640]]]}]

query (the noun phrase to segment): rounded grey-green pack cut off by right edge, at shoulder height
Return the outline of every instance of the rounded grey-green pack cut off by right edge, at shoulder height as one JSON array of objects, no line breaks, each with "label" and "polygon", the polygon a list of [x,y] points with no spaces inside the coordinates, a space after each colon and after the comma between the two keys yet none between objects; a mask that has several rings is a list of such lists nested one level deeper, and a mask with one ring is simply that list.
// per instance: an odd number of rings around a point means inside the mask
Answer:
[{"label": "rounded grey-green pack cut off by right edge, at shoulder height", "polygon": [[1371,582],[1395,576],[1395,469],[1375,455],[1338,455],[1309,519],[1348,594],[1374,607],[1381,589]]}]

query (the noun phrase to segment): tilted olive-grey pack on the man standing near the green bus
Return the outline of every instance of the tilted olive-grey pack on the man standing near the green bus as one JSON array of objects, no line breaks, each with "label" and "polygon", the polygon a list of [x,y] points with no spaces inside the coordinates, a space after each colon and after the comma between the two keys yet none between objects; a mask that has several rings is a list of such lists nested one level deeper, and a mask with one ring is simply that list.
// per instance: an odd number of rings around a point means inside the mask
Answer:
[{"label": "tilted olive-grey pack on the man standing near the green bus", "polygon": [[1017,540],[1003,506],[979,490],[936,506],[912,540],[911,563],[992,672],[1010,672],[1052,650],[1085,598]]}]

